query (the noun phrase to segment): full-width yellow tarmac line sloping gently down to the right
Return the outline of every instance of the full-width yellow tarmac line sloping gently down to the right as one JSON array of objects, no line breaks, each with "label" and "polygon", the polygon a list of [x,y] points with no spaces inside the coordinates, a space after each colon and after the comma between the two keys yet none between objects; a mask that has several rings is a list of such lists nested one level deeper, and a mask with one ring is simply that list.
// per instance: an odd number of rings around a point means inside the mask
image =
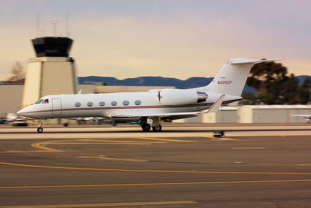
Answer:
[{"label": "full-width yellow tarmac line sloping gently down to the right", "polygon": [[102,168],[77,168],[77,167],[59,167],[59,166],[41,166],[41,165],[25,165],[16,163],[0,162],[2,165],[33,167],[33,168],[54,168],[69,170],[86,170],[86,171],[122,171],[122,172],[152,172],[152,173],[225,173],[225,174],[299,174],[311,175],[311,173],[281,173],[281,172],[211,172],[211,171],[165,171],[165,170],[129,170],[129,169],[102,169]]}]

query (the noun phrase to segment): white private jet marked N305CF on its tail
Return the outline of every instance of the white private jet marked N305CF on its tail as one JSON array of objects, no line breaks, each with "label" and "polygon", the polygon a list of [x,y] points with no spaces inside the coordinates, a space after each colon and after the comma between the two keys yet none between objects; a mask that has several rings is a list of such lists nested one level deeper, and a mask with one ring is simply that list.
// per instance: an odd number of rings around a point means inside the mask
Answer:
[{"label": "white private jet marked N305CF on its tail", "polygon": [[[280,60],[280,59],[276,59]],[[241,94],[252,65],[276,60],[232,58],[206,87],[153,89],[147,92],[47,95],[17,112],[38,119],[43,132],[47,119],[103,117],[113,120],[140,120],[142,130],[161,131],[160,119],[176,120],[218,112],[220,105],[242,99]]]}]

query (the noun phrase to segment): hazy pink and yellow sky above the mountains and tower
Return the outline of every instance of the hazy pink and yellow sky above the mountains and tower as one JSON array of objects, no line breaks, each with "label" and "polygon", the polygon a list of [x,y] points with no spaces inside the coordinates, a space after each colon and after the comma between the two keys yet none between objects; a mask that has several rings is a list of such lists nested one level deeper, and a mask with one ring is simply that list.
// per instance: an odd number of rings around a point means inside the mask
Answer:
[{"label": "hazy pink and yellow sky above the mountains and tower", "polygon": [[215,76],[229,58],[276,59],[311,75],[310,0],[0,0],[0,80],[35,57],[30,39],[65,35],[79,76]]}]

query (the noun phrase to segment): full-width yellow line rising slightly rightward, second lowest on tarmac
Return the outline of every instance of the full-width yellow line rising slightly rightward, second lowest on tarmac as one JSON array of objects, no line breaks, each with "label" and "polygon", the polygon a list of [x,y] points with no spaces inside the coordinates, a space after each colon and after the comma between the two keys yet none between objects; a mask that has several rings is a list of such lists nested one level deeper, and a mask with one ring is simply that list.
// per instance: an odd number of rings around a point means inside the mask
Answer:
[{"label": "full-width yellow line rising slightly rightward, second lowest on tarmac", "polygon": [[112,187],[112,186],[158,186],[158,185],[195,185],[195,184],[234,184],[234,183],[272,183],[272,182],[311,182],[311,179],[300,180],[263,180],[263,181],[205,181],[180,183],[136,183],[136,184],[91,184],[91,185],[56,185],[56,186],[9,186],[0,189],[35,189],[35,188],[66,188],[66,187]]}]

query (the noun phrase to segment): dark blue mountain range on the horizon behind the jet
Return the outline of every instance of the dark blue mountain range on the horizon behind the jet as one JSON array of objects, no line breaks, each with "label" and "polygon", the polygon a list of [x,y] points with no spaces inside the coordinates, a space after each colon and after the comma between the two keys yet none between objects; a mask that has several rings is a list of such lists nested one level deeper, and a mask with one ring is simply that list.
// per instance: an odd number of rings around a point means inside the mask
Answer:
[{"label": "dark blue mountain range on the horizon behind the jet", "polygon": [[[299,79],[299,85],[303,83],[308,75],[297,76]],[[176,88],[194,88],[194,87],[203,87],[207,86],[214,78],[213,77],[190,77],[186,80],[180,80],[176,78],[167,78],[167,77],[136,77],[136,78],[127,78],[119,80],[115,77],[101,77],[101,76],[87,76],[87,77],[78,77],[79,83],[85,82],[107,82],[109,86],[163,86],[163,87],[176,87]],[[243,92],[255,92],[253,87],[245,85]]]}]

